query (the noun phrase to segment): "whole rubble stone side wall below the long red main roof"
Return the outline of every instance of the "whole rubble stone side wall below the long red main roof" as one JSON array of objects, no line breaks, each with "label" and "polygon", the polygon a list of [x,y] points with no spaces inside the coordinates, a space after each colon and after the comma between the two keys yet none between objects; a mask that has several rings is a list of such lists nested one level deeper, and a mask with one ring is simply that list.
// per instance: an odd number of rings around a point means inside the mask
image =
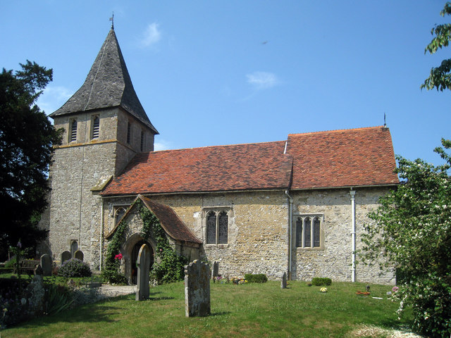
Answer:
[{"label": "whole rubble stone side wall below the long red main roof", "polygon": [[[379,196],[388,189],[357,189],[357,249],[369,211],[377,207]],[[352,237],[351,200],[349,189],[324,189],[290,192],[292,212],[292,279],[311,280],[330,277],[351,281]],[[242,277],[245,273],[265,273],[270,279],[288,271],[288,199],[283,191],[234,192],[217,194],[170,194],[147,196],[160,204],[171,206],[185,225],[204,242],[201,255],[211,263],[219,262],[219,273]],[[127,206],[135,199],[106,200],[105,232],[114,226],[115,206]],[[206,244],[206,212],[215,208],[229,211],[228,244]],[[323,215],[321,249],[302,249],[295,245],[295,216]],[[107,243],[106,243],[107,244]],[[105,244],[105,249],[106,249]],[[105,251],[104,251],[105,252]],[[380,275],[378,268],[357,265],[356,280],[393,284],[393,275]]]}]

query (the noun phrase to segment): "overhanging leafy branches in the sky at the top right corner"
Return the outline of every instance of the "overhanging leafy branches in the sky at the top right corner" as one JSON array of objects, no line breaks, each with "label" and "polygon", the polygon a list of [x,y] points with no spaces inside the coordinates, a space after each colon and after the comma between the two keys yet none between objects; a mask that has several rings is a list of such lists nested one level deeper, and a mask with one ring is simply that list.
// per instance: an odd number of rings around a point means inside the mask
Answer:
[{"label": "overhanging leafy branches in the sky at the top right corner", "polygon": [[[451,2],[447,2],[440,15],[451,14]],[[431,35],[435,35],[431,43],[426,46],[424,53],[434,54],[438,49],[448,46],[451,41],[451,24],[435,25],[431,30]],[[451,89],[451,58],[443,60],[438,67],[431,68],[429,77],[421,84],[421,89]]]}]

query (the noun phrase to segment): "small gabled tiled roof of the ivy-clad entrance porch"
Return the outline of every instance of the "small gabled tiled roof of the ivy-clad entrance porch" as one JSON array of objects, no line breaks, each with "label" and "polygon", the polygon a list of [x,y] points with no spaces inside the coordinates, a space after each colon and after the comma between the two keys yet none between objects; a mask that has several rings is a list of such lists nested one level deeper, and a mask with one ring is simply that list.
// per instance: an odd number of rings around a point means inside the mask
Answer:
[{"label": "small gabled tiled roof of the ivy-clad entrance porch", "polygon": [[[135,201],[137,199],[141,199],[144,205],[150,211],[152,211],[154,215],[156,215],[156,218],[158,218],[158,220],[160,221],[161,227],[163,227],[163,230],[171,238],[182,242],[202,244],[202,241],[200,239],[197,239],[197,237],[191,232],[190,229],[188,229],[185,223],[183,223],[183,220],[180,220],[175,211],[173,211],[173,208],[171,208],[170,206],[164,206],[163,204],[151,201],[150,199],[147,199],[147,197],[141,195],[138,195]],[[111,232],[106,235],[106,239],[109,239],[111,236],[113,236],[119,224],[121,224],[121,222],[123,222],[123,220],[127,218],[127,215],[134,207],[135,203],[132,203],[132,205],[125,212],[123,218],[121,218],[116,227],[114,227],[113,230],[111,230]]]}]

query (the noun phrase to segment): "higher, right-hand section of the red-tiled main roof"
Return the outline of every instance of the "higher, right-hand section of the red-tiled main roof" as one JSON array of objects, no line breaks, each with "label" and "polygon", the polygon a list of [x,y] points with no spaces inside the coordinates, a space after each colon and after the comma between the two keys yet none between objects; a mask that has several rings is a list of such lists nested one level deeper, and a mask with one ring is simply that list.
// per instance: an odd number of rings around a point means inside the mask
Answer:
[{"label": "higher, right-hand section of the red-tiled main roof", "polygon": [[288,135],[291,189],[399,183],[390,130],[368,127]]}]

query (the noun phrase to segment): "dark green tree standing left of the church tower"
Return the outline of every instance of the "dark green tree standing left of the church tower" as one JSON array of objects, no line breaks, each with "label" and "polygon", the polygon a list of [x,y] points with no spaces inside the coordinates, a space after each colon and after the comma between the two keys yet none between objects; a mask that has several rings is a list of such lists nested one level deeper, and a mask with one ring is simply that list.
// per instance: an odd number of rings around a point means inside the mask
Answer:
[{"label": "dark green tree standing left of the church tower", "polygon": [[0,260],[19,239],[32,247],[45,237],[37,223],[47,206],[53,146],[61,143],[36,105],[53,71],[30,61],[20,66],[0,73]]}]

